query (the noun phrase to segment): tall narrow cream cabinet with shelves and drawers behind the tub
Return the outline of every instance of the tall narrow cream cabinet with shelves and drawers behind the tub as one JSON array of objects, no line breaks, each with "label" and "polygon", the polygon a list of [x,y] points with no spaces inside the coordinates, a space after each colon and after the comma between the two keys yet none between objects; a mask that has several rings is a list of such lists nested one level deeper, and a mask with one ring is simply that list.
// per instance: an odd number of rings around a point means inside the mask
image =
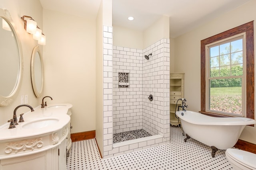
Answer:
[{"label": "tall narrow cream cabinet with shelves and drawers behind the tub", "polygon": [[[184,98],[184,73],[170,73],[170,125],[179,125],[180,120],[175,117],[177,100]],[[179,100],[178,105],[182,101]]]}]

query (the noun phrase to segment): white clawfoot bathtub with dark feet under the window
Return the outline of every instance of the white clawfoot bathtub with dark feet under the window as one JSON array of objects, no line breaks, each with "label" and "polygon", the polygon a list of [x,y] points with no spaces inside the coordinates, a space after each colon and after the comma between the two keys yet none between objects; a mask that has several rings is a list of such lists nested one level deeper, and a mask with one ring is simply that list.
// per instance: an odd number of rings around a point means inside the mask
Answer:
[{"label": "white clawfoot bathtub with dark feet under the window", "polygon": [[192,137],[212,149],[212,157],[218,149],[234,147],[246,125],[256,124],[244,117],[211,117],[194,111],[176,111],[187,139]]}]

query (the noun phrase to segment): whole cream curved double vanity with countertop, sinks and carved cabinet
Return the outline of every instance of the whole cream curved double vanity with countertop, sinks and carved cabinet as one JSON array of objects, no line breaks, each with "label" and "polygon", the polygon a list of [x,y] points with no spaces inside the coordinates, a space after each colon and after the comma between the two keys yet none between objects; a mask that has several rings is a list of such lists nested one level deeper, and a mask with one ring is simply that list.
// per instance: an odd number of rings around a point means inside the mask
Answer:
[{"label": "whole cream curved double vanity with countertop, sinks and carved cabinet", "polygon": [[[0,170],[66,170],[71,147],[71,104],[38,106],[24,122],[0,126]],[[18,117],[19,118],[19,117]]]}]

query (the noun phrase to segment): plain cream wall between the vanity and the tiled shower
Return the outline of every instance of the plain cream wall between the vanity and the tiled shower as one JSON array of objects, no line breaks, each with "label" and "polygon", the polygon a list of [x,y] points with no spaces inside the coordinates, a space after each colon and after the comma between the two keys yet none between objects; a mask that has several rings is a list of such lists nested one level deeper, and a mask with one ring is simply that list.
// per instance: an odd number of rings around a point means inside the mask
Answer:
[{"label": "plain cream wall between the vanity and the tiled shower", "polygon": [[43,21],[45,95],[73,105],[71,133],[95,130],[96,21],[47,9]]}]

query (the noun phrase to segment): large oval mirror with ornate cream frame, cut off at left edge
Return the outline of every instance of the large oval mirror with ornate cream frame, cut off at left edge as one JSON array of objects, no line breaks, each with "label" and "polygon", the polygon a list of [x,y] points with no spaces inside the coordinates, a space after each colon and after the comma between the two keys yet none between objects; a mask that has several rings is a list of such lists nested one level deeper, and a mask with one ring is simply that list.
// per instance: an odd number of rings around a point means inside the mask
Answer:
[{"label": "large oval mirror with ornate cream frame, cut off at left edge", "polygon": [[[9,16],[8,18],[6,16]],[[0,106],[16,98],[22,79],[22,49],[8,10],[0,8]]]}]

